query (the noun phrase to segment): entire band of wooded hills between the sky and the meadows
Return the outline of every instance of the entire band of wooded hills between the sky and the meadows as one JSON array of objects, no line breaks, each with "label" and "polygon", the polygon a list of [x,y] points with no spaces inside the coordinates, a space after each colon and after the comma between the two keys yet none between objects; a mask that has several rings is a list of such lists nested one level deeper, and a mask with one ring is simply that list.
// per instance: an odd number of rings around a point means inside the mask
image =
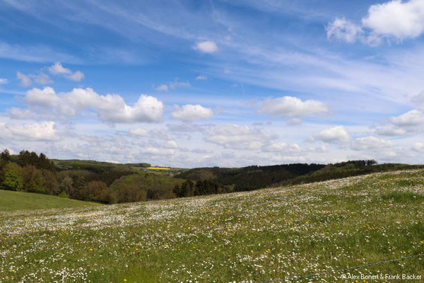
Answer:
[{"label": "entire band of wooded hills between the sky and the meadows", "polygon": [[311,183],[353,175],[407,168],[374,160],[335,164],[295,163],[242,168],[193,168],[177,175],[150,172],[148,163],[50,160],[45,154],[20,151],[0,155],[0,189],[58,195],[105,204],[163,200]]}]

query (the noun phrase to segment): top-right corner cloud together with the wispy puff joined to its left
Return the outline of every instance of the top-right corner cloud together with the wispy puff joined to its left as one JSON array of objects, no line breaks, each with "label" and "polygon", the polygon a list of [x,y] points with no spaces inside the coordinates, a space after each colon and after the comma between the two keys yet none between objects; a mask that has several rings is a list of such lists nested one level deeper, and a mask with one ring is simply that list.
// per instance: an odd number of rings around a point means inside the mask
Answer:
[{"label": "top-right corner cloud together with the wispy puff joined to its left", "polygon": [[326,27],[327,37],[353,43],[378,45],[383,38],[396,41],[416,38],[424,32],[424,1],[392,0],[368,8],[361,24],[336,18]]}]

